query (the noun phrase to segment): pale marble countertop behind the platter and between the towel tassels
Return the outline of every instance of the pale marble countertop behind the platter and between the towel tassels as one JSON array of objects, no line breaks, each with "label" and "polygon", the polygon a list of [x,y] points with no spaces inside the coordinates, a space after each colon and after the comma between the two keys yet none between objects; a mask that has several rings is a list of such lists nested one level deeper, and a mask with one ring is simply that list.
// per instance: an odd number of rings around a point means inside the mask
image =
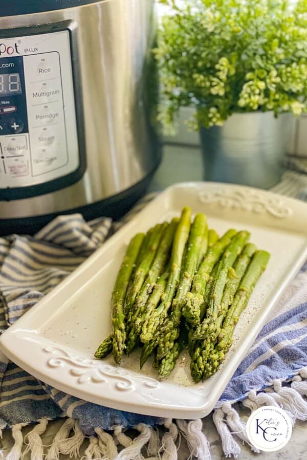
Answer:
[{"label": "pale marble countertop behind the platter and between the towel tassels", "polygon": [[[174,165],[176,165],[176,169],[174,168]],[[185,147],[178,145],[167,145],[164,148],[163,161],[151,182],[149,191],[162,190],[165,187],[171,185],[173,182],[202,179],[203,165],[201,152],[198,148],[191,146]],[[249,412],[246,409],[244,410],[245,412],[243,413],[245,418],[247,418]],[[46,432],[41,436],[43,445],[48,446],[51,444],[54,435],[62,423],[63,421],[61,420],[49,422]],[[211,446],[212,460],[221,460],[225,458],[222,451],[221,439],[215,429],[211,415],[206,417],[203,420],[203,423],[204,432],[207,435]],[[28,431],[30,431],[30,429],[32,429],[32,427],[24,428],[23,434],[25,435]],[[277,452],[261,452],[260,454],[256,454],[250,450],[248,445],[242,445],[242,442],[239,440],[237,440],[237,442],[242,448],[242,451],[238,457],[239,460],[252,460],[256,457],[259,460],[303,460],[307,457],[307,422],[297,422],[293,429],[291,440],[283,449]],[[5,456],[10,451],[12,445],[13,440],[11,433],[9,430],[5,430],[2,439],[2,448],[4,449]],[[81,447],[80,459],[84,455],[84,450],[86,447],[87,441],[85,441]],[[67,455],[60,456],[60,460],[66,460],[68,458],[69,457]],[[178,459],[187,460],[188,458],[189,450],[185,441],[182,439],[178,451]],[[26,455],[24,460],[30,460],[30,455]]]}]

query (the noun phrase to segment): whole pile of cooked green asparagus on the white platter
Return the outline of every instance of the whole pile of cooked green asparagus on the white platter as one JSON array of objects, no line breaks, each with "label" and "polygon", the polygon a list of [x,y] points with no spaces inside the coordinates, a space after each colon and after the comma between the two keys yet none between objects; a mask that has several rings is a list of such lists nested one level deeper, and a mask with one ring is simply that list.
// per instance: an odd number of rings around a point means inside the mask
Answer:
[{"label": "whole pile of cooked green asparagus on the white platter", "polygon": [[96,350],[102,359],[141,346],[140,367],[153,356],[160,378],[184,350],[195,382],[214,374],[228,352],[240,313],[269,254],[230,229],[218,239],[190,208],[131,239],[112,292],[113,331]]}]

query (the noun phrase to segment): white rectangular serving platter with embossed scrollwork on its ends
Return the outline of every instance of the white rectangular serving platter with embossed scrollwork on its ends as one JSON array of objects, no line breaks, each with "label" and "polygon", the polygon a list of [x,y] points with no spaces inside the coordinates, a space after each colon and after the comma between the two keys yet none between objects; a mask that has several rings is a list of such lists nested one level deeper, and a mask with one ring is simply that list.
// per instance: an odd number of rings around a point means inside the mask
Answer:
[{"label": "white rectangular serving platter with embossed scrollwork on its ends", "polygon": [[[184,205],[204,212],[210,228],[247,229],[258,248],[271,253],[235,329],[221,369],[194,384],[189,357],[161,381],[139,352],[121,366],[96,360],[98,344],[111,332],[110,298],[130,238],[179,215]],[[284,288],[307,258],[307,204],[248,187],[213,182],[179,183],[166,189],[125,224],[59,286],[0,338],[2,351],[24,370],[57,389],[107,407],[159,417],[206,416],[248,352]]]}]

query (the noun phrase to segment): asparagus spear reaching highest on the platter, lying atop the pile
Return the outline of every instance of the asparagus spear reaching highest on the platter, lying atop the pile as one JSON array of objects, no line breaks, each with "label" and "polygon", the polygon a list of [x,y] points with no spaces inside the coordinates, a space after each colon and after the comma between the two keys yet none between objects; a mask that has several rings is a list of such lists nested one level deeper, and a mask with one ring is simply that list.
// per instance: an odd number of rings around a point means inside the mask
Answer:
[{"label": "asparagus spear reaching highest on the platter, lying atop the pile", "polygon": [[141,341],[143,343],[148,343],[152,339],[157,327],[163,324],[169,307],[171,306],[171,302],[174,293],[176,292],[180,278],[180,270],[184,248],[190,232],[190,219],[190,208],[183,208],[180,222],[174,235],[174,241],[170,257],[170,273],[167,280],[165,293],[163,295],[162,302],[159,305],[159,307],[156,310],[153,310],[150,314],[146,312],[144,325],[140,335]]}]

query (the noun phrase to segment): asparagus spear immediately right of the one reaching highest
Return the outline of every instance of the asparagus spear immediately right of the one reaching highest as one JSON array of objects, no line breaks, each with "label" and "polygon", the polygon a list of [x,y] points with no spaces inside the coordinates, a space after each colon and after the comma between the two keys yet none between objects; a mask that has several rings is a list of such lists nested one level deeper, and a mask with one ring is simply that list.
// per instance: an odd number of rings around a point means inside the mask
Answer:
[{"label": "asparagus spear immediately right of the one reaching highest", "polygon": [[186,254],[180,275],[176,297],[172,301],[172,311],[169,318],[166,318],[163,333],[159,338],[157,351],[158,359],[163,358],[173,348],[174,340],[179,337],[179,325],[183,301],[188,293],[196,266],[199,260],[204,231],[207,227],[207,218],[204,214],[196,214],[191,225],[191,231],[186,246]]}]

